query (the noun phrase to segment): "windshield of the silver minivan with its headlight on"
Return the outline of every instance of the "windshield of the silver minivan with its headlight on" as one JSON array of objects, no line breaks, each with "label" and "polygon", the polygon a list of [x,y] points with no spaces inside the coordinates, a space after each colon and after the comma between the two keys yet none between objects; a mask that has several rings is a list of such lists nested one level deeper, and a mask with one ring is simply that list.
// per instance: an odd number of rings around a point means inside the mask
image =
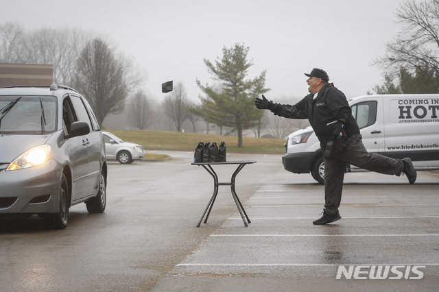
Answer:
[{"label": "windshield of the silver minivan with its headlight on", "polygon": [[55,132],[57,110],[53,96],[0,96],[0,134]]}]

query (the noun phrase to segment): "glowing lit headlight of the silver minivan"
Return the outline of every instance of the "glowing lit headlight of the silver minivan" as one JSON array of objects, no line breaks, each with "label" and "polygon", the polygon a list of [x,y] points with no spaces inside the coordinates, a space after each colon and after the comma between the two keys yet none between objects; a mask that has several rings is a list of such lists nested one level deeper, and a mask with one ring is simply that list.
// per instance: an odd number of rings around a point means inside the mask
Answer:
[{"label": "glowing lit headlight of the silver minivan", "polygon": [[36,167],[38,165],[42,165],[50,158],[51,158],[50,145],[47,144],[39,145],[25,151],[25,153],[17,157],[14,161],[10,163],[6,171]]}]

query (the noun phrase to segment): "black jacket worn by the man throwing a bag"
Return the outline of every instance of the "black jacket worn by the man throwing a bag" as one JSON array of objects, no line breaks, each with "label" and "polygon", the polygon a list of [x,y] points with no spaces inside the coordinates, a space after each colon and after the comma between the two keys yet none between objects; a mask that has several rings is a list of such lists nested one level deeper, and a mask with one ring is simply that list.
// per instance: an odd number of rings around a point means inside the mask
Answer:
[{"label": "black jacket worn by the man throwing a bag", "polygon": [[335,88],[333,84],[323,86],[316,99],[313,97],[314,95],[310,93],[294,106],[276,104],[272,112],[289,119],[308,119],[322,149],[333,138],[335,130],[335,123],[331,123],[333,121],[344,123],[347,137],[359,134],[357,122],[352,117],[351,108],[344,93]]}]

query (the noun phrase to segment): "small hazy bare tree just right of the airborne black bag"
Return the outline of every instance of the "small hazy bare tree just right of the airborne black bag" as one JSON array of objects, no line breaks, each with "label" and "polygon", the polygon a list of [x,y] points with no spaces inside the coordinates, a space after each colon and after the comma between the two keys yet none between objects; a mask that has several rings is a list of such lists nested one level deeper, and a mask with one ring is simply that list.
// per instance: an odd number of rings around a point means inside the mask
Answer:
[{"label": "small hazy bare tree just right of the airborne black bag", "polygon": [[181,82],[178,82],[174,87],[174,92],[163,101],[165,114],[174,122],[178,132],[182,130],[182,123],[187,119],[186,99],[185,87]]}]

